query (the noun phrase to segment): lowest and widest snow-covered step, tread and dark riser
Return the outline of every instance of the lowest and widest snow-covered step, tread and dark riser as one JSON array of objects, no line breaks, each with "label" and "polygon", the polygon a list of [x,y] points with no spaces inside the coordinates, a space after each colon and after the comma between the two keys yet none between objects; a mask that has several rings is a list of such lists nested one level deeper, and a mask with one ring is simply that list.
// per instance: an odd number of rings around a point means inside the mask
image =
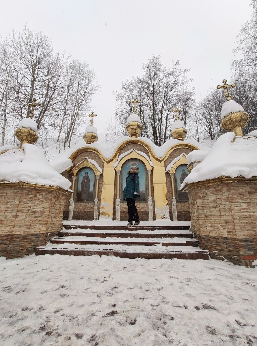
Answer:
[{"label": "lowest and widest snow-covered step, tread and dark riser", "polygon": [[192,246],[162,246],[161,244],[146,245],[77,245],[77,244],[47,244],[36,248],[36,255],[61,254],[74,256],[107,255],[123,258],[179,258],[196,260],[209,259],[208,251]]}]

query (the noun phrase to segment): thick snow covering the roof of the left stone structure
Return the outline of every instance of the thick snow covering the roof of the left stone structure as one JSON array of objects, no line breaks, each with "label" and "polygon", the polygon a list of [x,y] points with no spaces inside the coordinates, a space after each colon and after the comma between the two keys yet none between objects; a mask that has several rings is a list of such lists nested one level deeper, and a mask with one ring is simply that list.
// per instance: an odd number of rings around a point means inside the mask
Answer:
[{"label": "thick snow covering the roof of the left stone structure", "polygon": [[71,191],[70,181],[57,173],[41,149],[32,144],[24,144],[23,149],[10,149],[0,155],[0,181],[60,186]]}]

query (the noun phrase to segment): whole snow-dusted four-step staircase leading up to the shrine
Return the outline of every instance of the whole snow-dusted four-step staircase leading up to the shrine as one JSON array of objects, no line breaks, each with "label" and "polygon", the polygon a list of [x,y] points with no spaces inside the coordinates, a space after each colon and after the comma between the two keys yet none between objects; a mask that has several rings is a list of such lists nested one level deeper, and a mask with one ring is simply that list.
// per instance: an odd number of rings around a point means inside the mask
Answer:
[{"label": "whole snow-dusted four-step staircase leading up to the shrine", "polygon": [[46,246],[37,247],[35,254],[209,259],[208,251],[198,247],[189,226],[152,225],[151,222],[144,221],[142,225],[127,227],[127,222],[124,221],[120,221],[119,225],[113,223],[114,225],[103,226],[85,225],[85,221],[64,221],[63,230]]}]

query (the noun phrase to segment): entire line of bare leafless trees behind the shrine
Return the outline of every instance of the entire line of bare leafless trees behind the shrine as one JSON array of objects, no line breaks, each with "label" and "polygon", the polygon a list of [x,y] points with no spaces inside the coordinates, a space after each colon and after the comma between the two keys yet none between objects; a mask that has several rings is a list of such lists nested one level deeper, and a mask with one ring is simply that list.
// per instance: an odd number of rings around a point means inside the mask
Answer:
[{"label": "entire line of bare leafless trees behind the shrine", "polygon": [[[257,129],[257,0],[251,1],[252,16],[238,35],[239,60],[232,61],[235,83],[233,100],[250,115],[244,133]],[[132,114],[130,101],[137,97],[142,135],[158,146],[170,138],[170,125],[175,120],[172,109],[181,109],[188,135],[198,141],[216,139],[222,133],[221,107],[224,92],[209,89],[195,101],[188,70],[179,61],[171,67],[153,56],[142,65],[140,76],[124,82],[115,93],[115,121],[107,124],[106,139],[115,141],[126,135],[126,120]],[[14,130],[23,117],[29,117],[27,103],[41,102],[35,113],[39,138],[55,138],[59,149],[70,146],[81,136],[91,110],[91,101],[99,91],[94,70],[86,62],[71,59],[65,52],[54,52],[46,34],[24,27],[0,40],[0,145],[16,140]],[[83,126],[82,126],[83,124]]]}]

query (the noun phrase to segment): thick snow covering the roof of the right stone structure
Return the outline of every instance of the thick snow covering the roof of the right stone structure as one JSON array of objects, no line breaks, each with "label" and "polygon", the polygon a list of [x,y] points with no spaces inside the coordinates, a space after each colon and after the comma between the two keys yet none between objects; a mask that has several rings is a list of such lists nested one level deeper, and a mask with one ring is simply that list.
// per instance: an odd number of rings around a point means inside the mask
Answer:
[{"label": "thick snow covering the roof of the right stone structure", "polygon": [[195,183],[222,175],[250,178],[257,176],[257,137],[237,137],[233,132],[220,136],[210,152],[186,177],[185,183]]}]

